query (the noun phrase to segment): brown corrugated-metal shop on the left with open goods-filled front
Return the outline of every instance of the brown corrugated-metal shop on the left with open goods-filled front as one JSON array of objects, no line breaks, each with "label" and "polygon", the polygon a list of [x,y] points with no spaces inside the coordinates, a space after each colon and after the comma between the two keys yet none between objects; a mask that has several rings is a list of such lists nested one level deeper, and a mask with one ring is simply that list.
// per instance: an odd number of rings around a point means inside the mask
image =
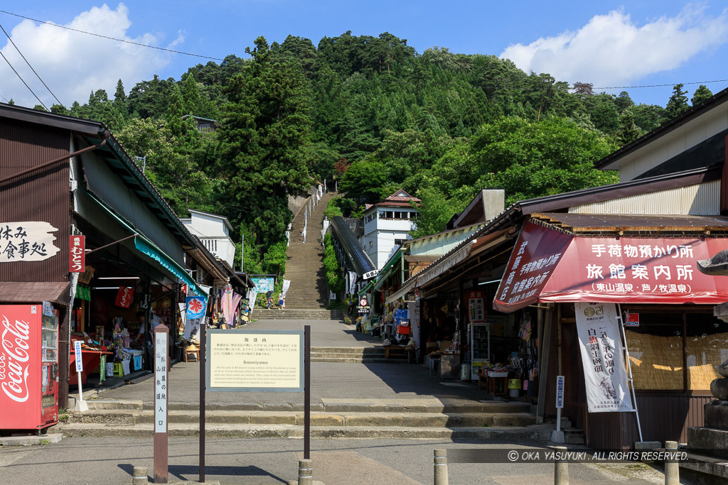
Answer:
[{"label": "brown corrugated-metal shop on the left with open goods-filled front", "polygon": [[[175,332],[181,321],[181,285],[207,298],[188,266],[215,260],[102,124],[0,105],[0,127],[0,160],[12,161],[0,164],[0,306],[47,308],[58,321],[55,338],[41,326],[33,352],[43,365],[23,381],[53,390],[42,405],[57,409],[79,380],[148,365],[154,326]],[[70,366],[76,341],[80,375]],[[4,384],[15,379],[0,372]]]}]

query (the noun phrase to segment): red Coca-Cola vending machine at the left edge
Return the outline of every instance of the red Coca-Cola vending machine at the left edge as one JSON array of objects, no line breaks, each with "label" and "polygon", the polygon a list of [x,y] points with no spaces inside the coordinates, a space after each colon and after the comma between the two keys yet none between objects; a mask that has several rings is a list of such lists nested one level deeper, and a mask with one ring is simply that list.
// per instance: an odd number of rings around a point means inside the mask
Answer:
[{"label": "red Coca-Cola vending machine at the left edge", "polygon": [[58,310],[0,305],[0,430],[58,422]]}]

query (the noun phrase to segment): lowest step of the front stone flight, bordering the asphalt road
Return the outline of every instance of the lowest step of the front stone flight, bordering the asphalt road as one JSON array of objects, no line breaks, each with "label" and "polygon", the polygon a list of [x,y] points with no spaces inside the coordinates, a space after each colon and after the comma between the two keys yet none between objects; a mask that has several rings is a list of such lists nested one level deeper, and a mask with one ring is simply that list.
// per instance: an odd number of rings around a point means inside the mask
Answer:
[{"label": "lowest step of the front stone flight, bordering the asphalt road", "polygon": [[[518,441],[531,439],[546,442],[553,425],[493,426],[493,427],[416,427],[405,426],[311,426],[312,438],[468,438]],[[149,437],[154,435],[154,424],[111,425],[92,422],[74,422],[49,428],[64,436]],[[170,423],[169,436],[199,436],[199,423]],[[205,424],[205,436],[213,438],[303,438],[302,425],[250,425],[238,423]]]}]

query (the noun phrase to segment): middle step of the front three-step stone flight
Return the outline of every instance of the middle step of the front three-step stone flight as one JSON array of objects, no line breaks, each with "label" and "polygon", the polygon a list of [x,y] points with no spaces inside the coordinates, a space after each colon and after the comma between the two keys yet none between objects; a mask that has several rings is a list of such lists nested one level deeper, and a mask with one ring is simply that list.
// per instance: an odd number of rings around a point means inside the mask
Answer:
[{"label": "middle step of the front three-step stone flight", "polygon": [[[199,422],[198,411],[171,410],[168,414],[170,425],[194,424]],[[105,410],[93,409],[83,413],[73,413],[68,423],[98,423],[113,425],[139,425],[154,422],[153,409]],[[246,425],[303,425],[303,412],[266,412],[266,411],[206,411],[205,422]],[[312,412],[312,426],[405,426],[408,428],[472,428],[490,426],[528,426],[536,423],[536,417],[529,413],[393,413],[393,412],[349,412],[331,414]]]}]

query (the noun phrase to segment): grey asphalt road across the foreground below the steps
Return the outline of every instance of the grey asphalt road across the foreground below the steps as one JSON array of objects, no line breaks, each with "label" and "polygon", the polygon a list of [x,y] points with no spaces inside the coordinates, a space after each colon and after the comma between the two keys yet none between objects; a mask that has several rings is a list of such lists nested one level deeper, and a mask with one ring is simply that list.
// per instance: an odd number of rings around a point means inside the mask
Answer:
[{"label": "grey asphalt road across the foreground below the steps", "polygon": [[[285,484],[295,480],[302,458],[300,439],[217,438],[206,446],[207,481],[221,484]],[[535,442],[518,445],[458,440],[349,440],[312,441],[314,480],[325,485],[432,484],[435,448],[543,449]],[[153,475],[150,438],[65,438],[59,444],[0,447],[2,484],[131,484],[132,468],[146,466]],[[199,441],[170,440],[170,481],[197,481]],[[553,464],[453,463],[451,485],[553,484]],[[647,465],[569,465],[569,483],[661,484],[662,473]]]}]

